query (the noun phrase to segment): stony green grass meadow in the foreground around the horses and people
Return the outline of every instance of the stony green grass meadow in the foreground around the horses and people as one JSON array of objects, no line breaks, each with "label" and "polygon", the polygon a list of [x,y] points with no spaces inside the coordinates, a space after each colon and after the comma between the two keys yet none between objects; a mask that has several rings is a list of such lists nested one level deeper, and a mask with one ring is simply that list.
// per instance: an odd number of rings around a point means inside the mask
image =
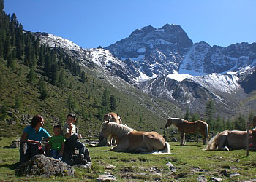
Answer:
[{"label": "stony green grass meadow in the foreground around the horses and people", "polygon": [[[256,179],[256,153],[246,150],[203,151],[201,143],[170,143],[173,155],[116,153],[110,147],[91,147],[91,169],[75,168],[76,176],[50,178],[15,175],[18,149],[7,149],[15,138],[0,138],[0,181],[96,181],[100,174],[113,174],[117,181],[197,181],[197,178],[221,178],[222,181]],[[171,162],[176,171],[166,165]],[[112,166],[111,166],[112,165]]]}]

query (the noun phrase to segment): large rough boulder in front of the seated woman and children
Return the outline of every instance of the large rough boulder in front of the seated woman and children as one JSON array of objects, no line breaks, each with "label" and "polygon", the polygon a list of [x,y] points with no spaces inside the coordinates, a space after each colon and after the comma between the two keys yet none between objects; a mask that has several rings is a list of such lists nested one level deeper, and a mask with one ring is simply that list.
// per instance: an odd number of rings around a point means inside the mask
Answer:
[{"label": "large rough boulder in front of the seated woman and children", "polygon": [[52,157],[45,157],[44,155],[36,155],[31,157],[29,161],[23,163],[15,170],[16,175],[42,177],[54,176],[75,176],[75,170],[64,162],[61,162]]}]

